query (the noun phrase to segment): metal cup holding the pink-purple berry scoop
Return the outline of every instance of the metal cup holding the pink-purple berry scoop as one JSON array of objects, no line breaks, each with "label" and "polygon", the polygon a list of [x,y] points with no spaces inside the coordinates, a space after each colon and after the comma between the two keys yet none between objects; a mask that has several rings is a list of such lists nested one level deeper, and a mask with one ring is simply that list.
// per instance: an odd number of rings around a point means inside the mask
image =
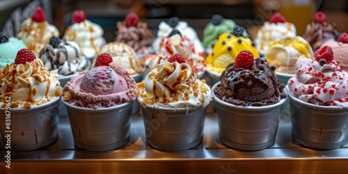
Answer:
[{"label": "metal cup holding the pink-purple berry scoop", "polygon": [[106,151],[129,142],[133,102],[89,109],[65,102],[74,144],[84,150]]}]

